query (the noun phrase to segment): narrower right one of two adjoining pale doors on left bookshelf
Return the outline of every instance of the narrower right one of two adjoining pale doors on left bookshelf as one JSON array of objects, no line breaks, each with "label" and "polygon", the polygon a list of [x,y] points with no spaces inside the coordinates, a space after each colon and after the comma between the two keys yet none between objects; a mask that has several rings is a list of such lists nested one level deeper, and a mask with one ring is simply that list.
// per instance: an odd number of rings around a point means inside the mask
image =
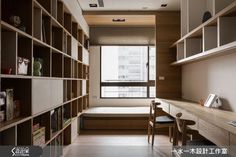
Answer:
[{"label": "narrower right one of two adjoining pale doors on left bookshelf", "polygon": [[51,95],[53,106],[63,103],[63,80],[51,80]]}]

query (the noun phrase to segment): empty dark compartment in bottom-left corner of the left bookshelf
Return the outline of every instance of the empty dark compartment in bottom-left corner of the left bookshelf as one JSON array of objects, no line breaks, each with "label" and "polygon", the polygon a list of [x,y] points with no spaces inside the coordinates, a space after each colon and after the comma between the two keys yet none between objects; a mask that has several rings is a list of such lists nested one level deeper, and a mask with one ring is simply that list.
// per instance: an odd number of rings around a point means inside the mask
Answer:
[{"label": "empty dark compartment in bottom-left corner of the left bookshelf", "polygon": [[16,128],[11,127],[7,130],[0,132],[0,145],[1,146],[15,146],[16,145]]}]

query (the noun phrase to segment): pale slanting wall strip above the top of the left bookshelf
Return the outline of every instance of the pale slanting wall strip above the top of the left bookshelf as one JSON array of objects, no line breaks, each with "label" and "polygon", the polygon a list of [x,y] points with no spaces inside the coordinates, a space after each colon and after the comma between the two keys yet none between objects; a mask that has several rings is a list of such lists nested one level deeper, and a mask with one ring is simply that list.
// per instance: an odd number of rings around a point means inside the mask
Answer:
[{"label": "pale slanting wall strip above the top of the left bookshelf", "polygon": [[83,31],[86,33],[86,35],[89,36],[89,26],[87,22],[84,19],[84,16],[82,14],[82,9],[80,8],[80,5],[77,0],[62,0],[66,7],[70,10],[73,17],[77,20],[77,22],[82,27]]}]

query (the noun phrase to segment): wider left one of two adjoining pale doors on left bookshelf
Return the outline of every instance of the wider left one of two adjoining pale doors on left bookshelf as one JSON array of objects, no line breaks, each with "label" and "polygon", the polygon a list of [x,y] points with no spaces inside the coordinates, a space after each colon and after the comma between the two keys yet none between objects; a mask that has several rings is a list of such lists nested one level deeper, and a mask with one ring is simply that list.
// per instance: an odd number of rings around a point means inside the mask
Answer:
[{"label": "wider left one of two adjoining pale doors on left bookshelf", "polygon": [[37,114],[50,108],[50,80],[32,80],[32,113]]}]

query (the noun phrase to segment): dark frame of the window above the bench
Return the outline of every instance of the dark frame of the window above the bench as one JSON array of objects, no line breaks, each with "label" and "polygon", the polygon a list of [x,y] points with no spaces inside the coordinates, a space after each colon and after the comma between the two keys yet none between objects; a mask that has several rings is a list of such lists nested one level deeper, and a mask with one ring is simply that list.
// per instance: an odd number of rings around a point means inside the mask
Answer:
[{"label": "dark frame of the window above the bench", "polygon": [[[147,82],[102,82],[102,47],[103,46],[147,46]],[[101,45],[100,46],[100,99],[153,99],[150,97],[150,87],[156,87],[156,81],[150,80],[150,47],[155,45]],[[156,56],[155,56],[156,58]],[[102,87],[146,87],[146,97],[102,97]]]}]

